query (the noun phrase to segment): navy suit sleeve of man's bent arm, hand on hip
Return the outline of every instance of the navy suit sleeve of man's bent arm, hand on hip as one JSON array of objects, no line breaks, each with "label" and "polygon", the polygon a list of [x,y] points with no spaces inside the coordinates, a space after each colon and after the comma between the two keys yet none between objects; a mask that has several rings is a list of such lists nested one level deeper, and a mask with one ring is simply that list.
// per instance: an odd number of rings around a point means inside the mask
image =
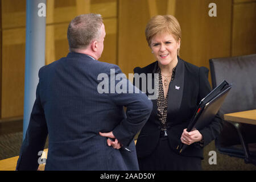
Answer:
[{"label": "navy suit sleeve of man's bent arm, hand on hip", "polygon": [[[113,134],[123,146],[129,146],[130,142],[133,141],[135,135],[142,129],[150,116],[152,102],[148,100],[146,94],[142,93],[141,90],[127,80],[126,76],[117,65],[114,65],[114,69],[115,76],[123,76],[122,80],[115,80],[115,93],[110,93],[110,99],[116,105],[127,107],[127,117],[114,128]],[[122,92],[119,92],[117,89],[120,84],[122,84],[123,87],[126,85],[126,89],[122,87]],[[131,90],[133,91],[131,92]]]}]

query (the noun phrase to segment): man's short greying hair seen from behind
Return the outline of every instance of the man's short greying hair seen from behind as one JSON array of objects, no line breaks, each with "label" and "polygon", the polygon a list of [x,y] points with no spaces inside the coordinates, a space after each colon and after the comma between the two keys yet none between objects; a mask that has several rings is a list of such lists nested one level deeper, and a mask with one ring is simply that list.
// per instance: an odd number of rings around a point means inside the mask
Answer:
[{"label": "man's short greying hair seen from behind", "polygon": [[82,14],[72,19],[68,26],[69,49],[86,48],[100,36],[102,26],[100,14]]}]

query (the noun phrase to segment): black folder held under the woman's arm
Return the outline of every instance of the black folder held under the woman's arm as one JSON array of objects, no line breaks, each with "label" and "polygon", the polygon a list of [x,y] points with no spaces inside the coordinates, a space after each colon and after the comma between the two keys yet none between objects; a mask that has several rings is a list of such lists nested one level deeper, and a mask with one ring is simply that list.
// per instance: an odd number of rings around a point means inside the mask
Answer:
[{"label": "black folder held under the woman's arm", "polygon": [[[200,101],[199,106],[197,106],[197,109],[193,114],[191,122],[189,122],[187,131],[189,132],[194,129],[201,130],[205,126],[208,126],[209,123],[212,122],[212,119],[217,114],[218,110],[220,109],[222,103],[225,100],[225,97],[227,96],[231,88],[232,85],[224,80],[221,82],[220,85],[214,88],[212,92],[210,92],[206,97],[204,97]],[[181,151],[184,151],[186,147],[186,144],[180,142],[179,145],[177,146],[177,150],[179,150],[179,152],[181,153]]]}]

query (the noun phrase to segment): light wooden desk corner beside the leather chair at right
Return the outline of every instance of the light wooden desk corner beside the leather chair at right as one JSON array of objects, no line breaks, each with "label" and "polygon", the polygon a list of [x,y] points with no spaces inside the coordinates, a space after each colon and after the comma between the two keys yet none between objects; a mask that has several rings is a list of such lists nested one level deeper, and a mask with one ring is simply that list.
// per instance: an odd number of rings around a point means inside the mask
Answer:
[{"label": "light wooden desk corner beside the leather chair at right", "polygon": [[256,109],[224,114],[224,119],[227,121],[256,125]]}]

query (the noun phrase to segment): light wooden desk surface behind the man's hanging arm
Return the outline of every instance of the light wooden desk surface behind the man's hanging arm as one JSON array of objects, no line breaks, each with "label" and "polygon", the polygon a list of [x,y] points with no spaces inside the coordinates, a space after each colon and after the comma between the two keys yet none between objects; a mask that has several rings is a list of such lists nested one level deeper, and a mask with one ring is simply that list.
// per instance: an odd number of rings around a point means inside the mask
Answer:
[{"label": "light wooden desk surface behind the man's hanging arm", "polygon": [[[47,152],[48,149],[45,149],[42,155],[42,159],[47,158]],[[15,156],[13,158],[0,160],[0,171],[15,171],[18,158],[19,156]],[[38,170],[44,171],[45,166],[45,164],[40,164]]]}]

